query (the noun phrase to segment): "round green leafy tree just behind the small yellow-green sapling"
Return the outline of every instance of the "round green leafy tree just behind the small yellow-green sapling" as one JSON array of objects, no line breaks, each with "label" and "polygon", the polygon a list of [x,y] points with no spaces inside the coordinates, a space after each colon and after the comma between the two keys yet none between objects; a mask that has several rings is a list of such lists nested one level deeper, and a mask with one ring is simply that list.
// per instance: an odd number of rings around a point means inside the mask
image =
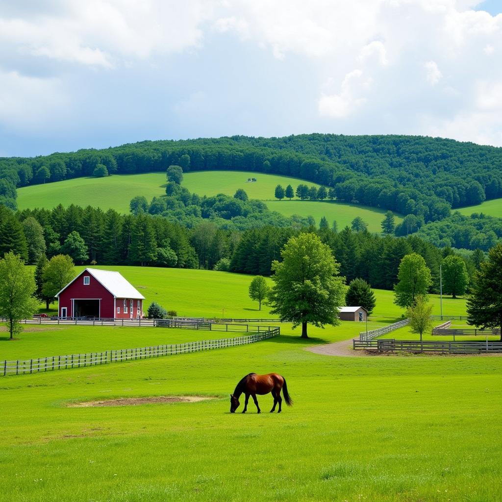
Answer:
[{"label": "round green leafy tree just behind the small yellow-green sapling", "polygon": [[427,295],[432,284],[431,271],[417,253],[406,255],[399,266],[398,283],[394,286],[394,303],[411,307],[420,295]]}]

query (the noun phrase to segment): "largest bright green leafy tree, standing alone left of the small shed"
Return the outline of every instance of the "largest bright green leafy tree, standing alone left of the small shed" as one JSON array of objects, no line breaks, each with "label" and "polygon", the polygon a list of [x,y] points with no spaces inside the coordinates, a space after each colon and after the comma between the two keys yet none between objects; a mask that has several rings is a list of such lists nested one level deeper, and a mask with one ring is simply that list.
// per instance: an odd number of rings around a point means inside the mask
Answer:
[{"label": "largest bright green leafy tree, standing alone left of the small shed", "polygon": [[307,323],[339,324],[347,287],[329,246],[314,233],[302,233],[288,240],[281,256],[282,262],[272,264],[271,313],[292,322],[294,328],[301,324],[302,338],[308,337]]}]

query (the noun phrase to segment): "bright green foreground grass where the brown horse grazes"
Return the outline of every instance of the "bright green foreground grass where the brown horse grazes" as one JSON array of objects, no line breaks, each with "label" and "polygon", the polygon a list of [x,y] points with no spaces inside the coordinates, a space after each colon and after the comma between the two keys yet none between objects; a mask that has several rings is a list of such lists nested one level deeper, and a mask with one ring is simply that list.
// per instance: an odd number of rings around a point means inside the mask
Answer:
[{"label": "bright green foreground grass where the brown horse grazes", "polygon": [[[286,334],[243,347],[2,378],[2,498],[499,500],[500,358],[305,350],[322,341]],[[246,415],[228,413],[228,395],[250,371],[283,374],[294,406],[269,414],[269,395],[259,397],[261,415],[253,404]],[[217,399],[66,406],[166,395]]]}]

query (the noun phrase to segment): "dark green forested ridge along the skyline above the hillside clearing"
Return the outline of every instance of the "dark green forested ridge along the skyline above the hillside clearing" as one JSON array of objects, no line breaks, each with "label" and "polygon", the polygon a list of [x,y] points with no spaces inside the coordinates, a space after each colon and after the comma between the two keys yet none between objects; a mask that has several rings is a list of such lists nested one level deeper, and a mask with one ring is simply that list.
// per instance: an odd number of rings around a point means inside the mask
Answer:
[{"label": "dark green forested ridge along the skyline above the hillside clearing", "polygon": [[[0,203],[15,187],[103,173],[247,170],[334,186],[337,199],[440,220],[502,197],[502,149],[419,136],[300,135],[146,141],[103,150],[0,159]],[[97,168],[99,168],[97,170]],[[104,171],[104,172],[106,172]]]}]

